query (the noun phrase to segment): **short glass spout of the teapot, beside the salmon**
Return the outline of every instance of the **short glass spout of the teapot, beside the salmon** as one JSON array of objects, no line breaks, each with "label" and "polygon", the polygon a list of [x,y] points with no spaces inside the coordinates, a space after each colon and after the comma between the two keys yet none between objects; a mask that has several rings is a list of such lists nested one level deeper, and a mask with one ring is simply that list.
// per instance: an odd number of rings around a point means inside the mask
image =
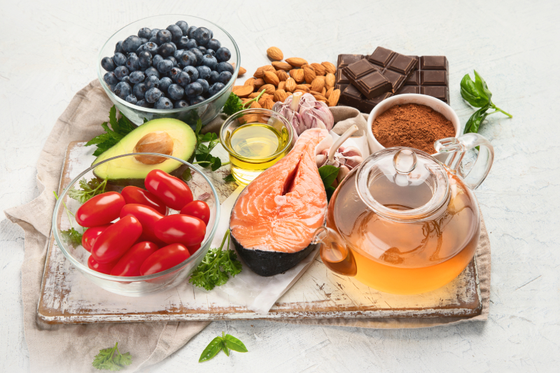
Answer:
[{"label": "short glass spout of the teapot, beside the salmon", "polygon": [[356,260],[338,232],[318,227],[311,242],[321,244],[321,260],[328,269],[344,276],[356,276]]}]

